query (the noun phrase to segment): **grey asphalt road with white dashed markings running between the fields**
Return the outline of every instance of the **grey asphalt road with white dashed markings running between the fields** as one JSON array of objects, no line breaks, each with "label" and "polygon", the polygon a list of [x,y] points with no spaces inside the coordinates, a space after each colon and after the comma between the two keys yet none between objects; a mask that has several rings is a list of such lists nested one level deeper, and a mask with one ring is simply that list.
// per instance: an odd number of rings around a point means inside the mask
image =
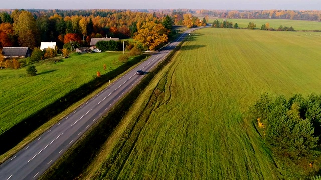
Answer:
[{"label": "grey asphalt road with white dashed markings running between the fields", "polygon": [[0,165],[0,179],[37,179],[77,139],[107,112],[125,93],[136,86],[145,75],[136,75],[137,70],[148,72],[162,61],[191,30],[185,31],[175,41],[163,47],[135,69],[110,84],[107,88],[82,104],[36,140],[26,145],[12,158]]}]

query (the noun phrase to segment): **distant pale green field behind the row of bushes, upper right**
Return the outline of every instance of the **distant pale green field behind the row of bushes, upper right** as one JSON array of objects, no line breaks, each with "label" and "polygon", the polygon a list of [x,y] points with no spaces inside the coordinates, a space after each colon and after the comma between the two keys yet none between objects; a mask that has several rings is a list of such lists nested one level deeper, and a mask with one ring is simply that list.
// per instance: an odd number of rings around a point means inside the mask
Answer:
[{"label": "distant pale green field behind the row of bushes, upper right", "polygon": [[[215,18],[210,18],[209,23],[213,23],[216,20]],[[222,21],[223,19],[217,19]],[[277,29],[280,25],[283,27],[293,27],[294,30],[321,30],[321,22],[316,21],[305,21],[305,20],[284,20],[284,19],[225,19],[229,22],[238,24],[239,28],[247,28],[247,25],[250,22],[256,24],[257,29],[261,29],[263,24],[269,23],[270,27]]]}]

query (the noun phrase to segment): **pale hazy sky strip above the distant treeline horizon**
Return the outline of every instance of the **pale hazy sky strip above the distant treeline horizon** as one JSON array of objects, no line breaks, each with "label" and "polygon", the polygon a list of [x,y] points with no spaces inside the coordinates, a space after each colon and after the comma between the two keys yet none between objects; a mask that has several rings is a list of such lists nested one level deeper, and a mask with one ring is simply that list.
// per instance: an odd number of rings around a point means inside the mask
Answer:
[{"label": "pale hazy sky strip above the distant treeline horizon", "polygon": [[0,0],[0,9],[321,10],[321,0]]}]

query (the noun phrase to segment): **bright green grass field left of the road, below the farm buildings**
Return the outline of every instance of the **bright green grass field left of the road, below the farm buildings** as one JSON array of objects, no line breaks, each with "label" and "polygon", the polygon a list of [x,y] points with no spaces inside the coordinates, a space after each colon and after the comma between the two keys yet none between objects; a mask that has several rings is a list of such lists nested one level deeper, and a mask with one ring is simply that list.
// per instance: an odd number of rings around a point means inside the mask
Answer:
[{"label": "bright green grass field left of the road, below the farm buildings", "polygon": [[[63,62],[42,61],[27,77],[26,68],[0,70],[0,134],[73,89],[121,65],[121,53],[71,55]],[[106,70],[103,69],[106,64]]]}]

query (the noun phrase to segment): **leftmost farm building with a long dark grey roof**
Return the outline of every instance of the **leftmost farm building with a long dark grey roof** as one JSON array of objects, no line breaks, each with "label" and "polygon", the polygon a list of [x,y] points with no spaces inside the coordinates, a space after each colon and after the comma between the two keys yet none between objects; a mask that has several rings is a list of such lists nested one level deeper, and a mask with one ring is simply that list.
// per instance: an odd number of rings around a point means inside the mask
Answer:
[{"label": "leftmost farm building with a long dark grey roof", "polygon": [[25,58],[30,57],[31,49],[29,47],[4,47],[2,54],[5,58]]}]

